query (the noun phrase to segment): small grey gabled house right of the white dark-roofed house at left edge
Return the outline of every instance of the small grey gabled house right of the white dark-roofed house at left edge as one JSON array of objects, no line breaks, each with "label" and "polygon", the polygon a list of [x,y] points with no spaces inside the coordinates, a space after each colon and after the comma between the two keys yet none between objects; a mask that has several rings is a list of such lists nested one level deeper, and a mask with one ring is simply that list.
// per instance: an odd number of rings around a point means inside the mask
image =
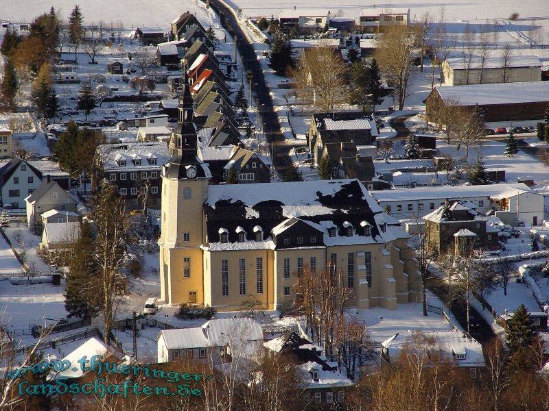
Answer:
[{"label": "small grey gabled house right of the white dark-roofed house at left edge", "polygon": [[75,212],[78,207],[76,201],[67,191],[59,186],[54,180],[46,176],[42,184],[25,198],[27,208],[27,225],[31,232],[39,234],[42,232],[42,219],[40,214],[53,210]]}]

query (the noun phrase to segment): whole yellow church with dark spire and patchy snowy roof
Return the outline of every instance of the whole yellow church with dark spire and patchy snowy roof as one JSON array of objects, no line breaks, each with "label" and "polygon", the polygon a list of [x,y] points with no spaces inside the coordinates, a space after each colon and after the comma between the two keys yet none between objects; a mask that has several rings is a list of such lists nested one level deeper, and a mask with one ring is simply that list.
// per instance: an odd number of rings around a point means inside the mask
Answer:
[{"label": "whole yellow church with dark spire and patchy snowy roof", "polygon": [[357,179],[210,185],[185,83],[162,171],[161,303],[276,310],[296,276],[342,273],[349,306],[421,301],[408,234]]}]

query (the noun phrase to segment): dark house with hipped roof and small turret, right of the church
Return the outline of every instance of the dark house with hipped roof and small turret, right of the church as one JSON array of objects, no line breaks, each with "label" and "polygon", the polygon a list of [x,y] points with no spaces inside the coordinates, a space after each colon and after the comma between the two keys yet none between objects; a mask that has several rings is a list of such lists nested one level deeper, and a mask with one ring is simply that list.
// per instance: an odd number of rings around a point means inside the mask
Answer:
[{"label": "dark house with hipped roof and small turret, right of the church", "polygon": [[493,251],[500,248],[500,229],[476,212],[470,201],[447,202],[423,217],[428,247],[439,252],[460,254],[471,249]]}]

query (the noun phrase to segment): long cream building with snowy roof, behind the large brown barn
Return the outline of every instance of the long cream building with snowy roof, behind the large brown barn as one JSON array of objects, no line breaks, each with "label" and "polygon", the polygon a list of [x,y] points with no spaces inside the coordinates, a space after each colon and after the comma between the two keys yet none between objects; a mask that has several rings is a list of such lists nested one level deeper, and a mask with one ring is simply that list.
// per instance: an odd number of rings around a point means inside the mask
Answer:
[{"label": "long cream building with snowy roof, behind the large brown barn", "polygon": [[449,58],[441,65],[444,86],[541,82],[541,61],[536,55],[513,55],[502,67],[502,58]]}]

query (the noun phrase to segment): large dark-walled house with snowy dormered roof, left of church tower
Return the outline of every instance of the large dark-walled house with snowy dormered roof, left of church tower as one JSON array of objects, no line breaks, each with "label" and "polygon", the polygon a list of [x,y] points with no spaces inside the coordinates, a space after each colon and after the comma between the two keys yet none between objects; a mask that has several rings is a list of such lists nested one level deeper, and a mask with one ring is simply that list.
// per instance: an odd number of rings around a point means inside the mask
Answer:
[{"label": "large dark-walled house with snowy dormered roof, left of church tower", "polygon": [[104,175],[117,186],[128,208],[143,208],[143,196],[148,192],[148,208],[161,206],[161,168],[169,160],[165,142],[125,142],[97,146],[97,161]]}]

